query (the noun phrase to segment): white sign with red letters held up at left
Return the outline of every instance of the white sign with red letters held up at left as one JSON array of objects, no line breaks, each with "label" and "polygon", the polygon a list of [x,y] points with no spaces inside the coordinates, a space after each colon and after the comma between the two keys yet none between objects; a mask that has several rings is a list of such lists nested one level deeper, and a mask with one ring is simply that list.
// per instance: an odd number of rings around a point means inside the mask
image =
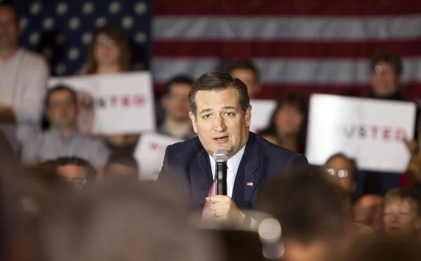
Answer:
[{"label": "white sign with red letters held up at left", "polygon": [[93,134],[155,130],[154,95],[149,72],[51,78],[48,87],[68,85],[78,93],[78,127]]}]

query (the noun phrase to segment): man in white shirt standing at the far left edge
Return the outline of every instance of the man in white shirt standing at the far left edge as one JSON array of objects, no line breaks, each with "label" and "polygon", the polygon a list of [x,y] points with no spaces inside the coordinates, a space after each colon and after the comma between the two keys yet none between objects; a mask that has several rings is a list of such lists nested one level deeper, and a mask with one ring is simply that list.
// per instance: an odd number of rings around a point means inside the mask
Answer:
[{"label": "man in white shirt standing at the far left edge", "polygon": [[41,129],[49,69],[44,58],[19,47],[18,8],[0,3],[0,129],[14,150]]}]

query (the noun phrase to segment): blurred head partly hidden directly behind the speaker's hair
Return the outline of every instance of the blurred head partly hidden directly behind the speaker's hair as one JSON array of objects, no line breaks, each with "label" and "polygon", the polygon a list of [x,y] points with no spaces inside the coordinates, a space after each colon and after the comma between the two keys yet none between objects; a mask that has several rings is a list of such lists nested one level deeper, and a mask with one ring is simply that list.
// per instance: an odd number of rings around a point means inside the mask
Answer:
[{"label": "blurred head partly hidden directly behind the speaker's hair", "polygon": [[233,61],[228,69],[228,73],[234,78],[239,78],[247,86],[248,97],[255,99],[262,92],[259,71],[249,59],[239,59]]}]

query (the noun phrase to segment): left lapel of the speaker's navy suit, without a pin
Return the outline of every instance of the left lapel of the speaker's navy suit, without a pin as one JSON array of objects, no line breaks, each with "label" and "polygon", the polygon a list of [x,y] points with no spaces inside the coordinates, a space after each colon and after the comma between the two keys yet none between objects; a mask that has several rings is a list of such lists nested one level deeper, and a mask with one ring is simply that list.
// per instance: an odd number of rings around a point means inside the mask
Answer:
[{"label": "left lapel of the speaker's navy suit, without a pin", "polygon": [[189,164],[189,176],[194,205],[203,206],[213,182],[209,155],[203,148],[197,153],[196,159]]}]

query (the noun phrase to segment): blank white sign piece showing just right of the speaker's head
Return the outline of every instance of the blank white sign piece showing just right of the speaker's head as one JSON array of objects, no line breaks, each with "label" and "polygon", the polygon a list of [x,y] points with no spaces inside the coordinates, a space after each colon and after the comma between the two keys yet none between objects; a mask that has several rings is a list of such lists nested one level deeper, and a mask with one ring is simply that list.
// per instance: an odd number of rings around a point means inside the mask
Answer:
[{"label": "blank white sign piece showing just right of the speaker's head", "polygon": [[251,104],[250,132],[257,133],[270,123],[270,117],[276,108],[276,101],[253,99]]}]

